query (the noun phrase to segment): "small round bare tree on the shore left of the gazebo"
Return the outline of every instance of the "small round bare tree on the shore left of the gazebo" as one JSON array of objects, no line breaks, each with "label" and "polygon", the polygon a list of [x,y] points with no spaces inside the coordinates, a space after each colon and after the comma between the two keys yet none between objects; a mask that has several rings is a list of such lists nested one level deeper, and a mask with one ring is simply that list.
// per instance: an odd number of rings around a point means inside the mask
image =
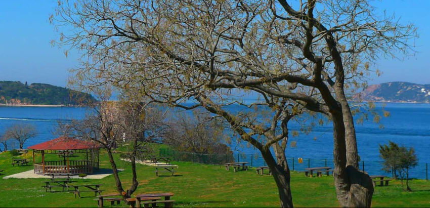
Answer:
[{"label": "small round bare tree on the shore left of the gazebo", "polygon": [[[4,135],[6,144],[8,139],[15,139],[19,143],[19,148],[23,149],[25,142],[37,135],[36,128],[32,124],[16,123],[9,127]],[[3,142],[2,142],[3,143]]]}]

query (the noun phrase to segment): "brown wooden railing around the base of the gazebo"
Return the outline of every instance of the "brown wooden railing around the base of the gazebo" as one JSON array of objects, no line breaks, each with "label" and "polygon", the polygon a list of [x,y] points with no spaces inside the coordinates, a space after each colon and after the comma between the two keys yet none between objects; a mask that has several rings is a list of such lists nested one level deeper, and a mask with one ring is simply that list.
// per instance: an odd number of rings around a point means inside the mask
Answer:
[{"label": "brown wooden railing around the base of the gazebo", "polygon": [[92,174],[94,169],[99,169],[99,163],[85,160],[46,161],[34,164],[34,173],[41,175],[49,174]]}]

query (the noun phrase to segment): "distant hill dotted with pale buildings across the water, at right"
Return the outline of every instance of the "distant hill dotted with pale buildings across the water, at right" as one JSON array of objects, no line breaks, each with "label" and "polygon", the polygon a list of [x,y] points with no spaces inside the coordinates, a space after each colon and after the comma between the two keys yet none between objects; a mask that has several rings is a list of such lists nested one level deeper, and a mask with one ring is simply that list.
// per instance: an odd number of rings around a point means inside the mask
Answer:
[{"label": "distant hill dotted with pale buildings across the water, at right", "polygon": [[430,85],[418,85],[409,82],[388,82],[369,86],[355,96],[364,101],[373,102],[415,102],[430,103]]}]

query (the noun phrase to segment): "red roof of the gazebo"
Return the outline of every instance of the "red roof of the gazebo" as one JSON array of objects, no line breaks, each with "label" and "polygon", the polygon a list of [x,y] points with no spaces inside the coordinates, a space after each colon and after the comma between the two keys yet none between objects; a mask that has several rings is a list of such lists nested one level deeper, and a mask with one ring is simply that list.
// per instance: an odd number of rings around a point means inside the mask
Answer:
[{"label": "red roof of the gazebo", "polygon": [[82,141],[74,138],[60,137],[44,143],[36,144],[28,149],[36,150],[78,150],[93,149],[96,145],[91,142]]}]

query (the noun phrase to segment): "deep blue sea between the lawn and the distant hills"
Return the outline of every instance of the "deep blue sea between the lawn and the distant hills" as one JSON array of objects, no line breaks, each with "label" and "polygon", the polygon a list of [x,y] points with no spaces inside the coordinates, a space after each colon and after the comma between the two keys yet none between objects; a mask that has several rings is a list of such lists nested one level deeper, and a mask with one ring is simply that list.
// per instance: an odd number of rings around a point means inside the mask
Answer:
[{"label": "deep blue sea between the lawn and the distant hills", "polygon": [[[381,110],[382,105],[378,104]],[[425,179],[426,163],[430,163],[430,104],[413,103],[389,103],[385,110],[391,113],[388,118],[382,118],[383,129],[379,124],[371,121],[356,125],[358,136],[358,148],[364,170],[371,175],[391,173],[381,171],[378,147],[394,141],[407,147],[415,148],[419,158],[419,165],[412,170],[411,177]],[[47,140],[55,139],[54,124],[58,119],[70,119],[83,117],[84,109],[79,107],[6,107],[0,106],[0,134],[16,122],[31,123],[36,126],[38,135],[25,144],[26,147]],[[295,124],[289,127],[296,129]],[[329,125],[315,127],[309,135],[300,134],[298,137],[290,138],[290,143],[296,142],[296,147],[288,147],[286,154],[289,159],[290,168],[294,163],[294,170],[300,171],[304,168],[333,165],[333,136]],[[235,158],[240,161],[252,162],[252,166],[264,165],[259,157],[259,152],[246,144],[233,145]],[[11,147],[10,147],[11,148]],[[18,147],[15,147],[18,148]],[[3,149],[3,147],[1,147]],[[294,160],[292,159],[294,158]],[[303,163],[298,163],[298,158],[303,158]],[[293,162],[294,161],[294,162]],[[361,163],[362,167],[363,163]]]}]

